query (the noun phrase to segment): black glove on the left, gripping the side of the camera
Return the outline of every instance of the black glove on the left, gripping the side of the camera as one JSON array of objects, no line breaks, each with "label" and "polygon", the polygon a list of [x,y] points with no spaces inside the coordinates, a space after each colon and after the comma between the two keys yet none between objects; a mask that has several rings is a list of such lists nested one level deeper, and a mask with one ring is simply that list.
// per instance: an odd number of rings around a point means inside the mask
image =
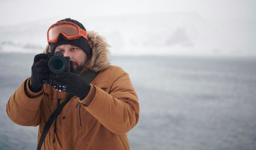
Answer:
[{"label": "black glove on the left, gripping the side of the camera", "polygon": [[43,87],[43,79],[48,79],[50,70],[48,68],[48,54],[37,54],[34,57],[34,63],[31,67],[31,85],[30,90],[38,92]]}]

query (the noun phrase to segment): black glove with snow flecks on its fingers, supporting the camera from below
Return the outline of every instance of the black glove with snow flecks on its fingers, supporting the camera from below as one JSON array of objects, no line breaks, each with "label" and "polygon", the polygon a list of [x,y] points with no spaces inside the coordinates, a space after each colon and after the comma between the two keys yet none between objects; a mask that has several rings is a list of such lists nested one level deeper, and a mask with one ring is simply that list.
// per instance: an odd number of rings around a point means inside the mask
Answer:
[{"label": "black glove with snow flecks on its fingers, supporting the camera from below", "polygon": [[50,73],[49,81],[52,88],[70,93],[81,100],[88,95],[91,88],[90,84],[86,83],[75,71],[72,61],[70,61],[70,72],[63,72],[59,75]]}]

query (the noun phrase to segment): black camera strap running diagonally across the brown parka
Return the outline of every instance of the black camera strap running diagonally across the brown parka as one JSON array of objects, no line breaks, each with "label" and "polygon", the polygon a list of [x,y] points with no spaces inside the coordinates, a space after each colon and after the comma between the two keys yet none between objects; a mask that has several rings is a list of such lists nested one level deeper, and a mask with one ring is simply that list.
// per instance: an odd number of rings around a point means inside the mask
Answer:
[{"label": "black camera strap running diagonally across the brown parka", "polygon": [[[95,72],[91,69],[88,69],[83,75],[82,78],[89,84],[100,72]],[[57,116],[60,114],[62,108],[67,104],[67,102],[73,97],[72,94],[68,94],[67,95],[67,99],[61,103],[61,105],[55,109],[55,111],[52,113],[52,115],[49,117],[49,119],[46,122],[46,125],[43,128],[43,132],[40,136],[40,140],[38,142],[37,145],[37,150],[40,150],[42,145],[43,145],[43,141],[46,138],[46,135],[50,129],[50,127],[52,126],[53,121],[55,120],[55,118],[57,118]]]}]

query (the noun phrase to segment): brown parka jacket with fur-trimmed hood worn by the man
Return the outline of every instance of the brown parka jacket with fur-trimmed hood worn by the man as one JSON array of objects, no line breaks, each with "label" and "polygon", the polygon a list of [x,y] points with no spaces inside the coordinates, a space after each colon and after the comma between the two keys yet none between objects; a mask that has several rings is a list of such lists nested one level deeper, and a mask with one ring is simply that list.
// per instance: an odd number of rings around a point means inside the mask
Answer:
[{"label": "brown parka jacket with fur-trimmed hood worn by the man", "polygon": [[[127,132],[139,119],[138,97],[128,73],[110,65],[105,39],[88,32],[92,57],[84,69],[100,71],[91,81],[85,99],[73,98],[49,129],[41,150],[129,150]],[[47,53],[49,45],[47,45]],[[9,118],[21,126],[38,126],[38,141],[46,121],[67,93],[44,84],[37,93],[29,89],[30,77],[10,96]],[[56,132],[54,128],[56,127]],[[55,141],[53,143],[53,140]]]}]

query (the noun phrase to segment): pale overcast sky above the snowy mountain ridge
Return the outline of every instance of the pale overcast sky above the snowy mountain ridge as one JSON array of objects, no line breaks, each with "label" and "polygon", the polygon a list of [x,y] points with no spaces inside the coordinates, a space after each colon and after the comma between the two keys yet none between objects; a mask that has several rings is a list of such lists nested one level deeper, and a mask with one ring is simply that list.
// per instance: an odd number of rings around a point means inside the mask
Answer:
[{"label": "pale overcast sky above the snowy mountain ridge", "polygon": [[256,20],[256,0],[0,0],[1,25],[46,18],[196,12],[208,19]]}]

